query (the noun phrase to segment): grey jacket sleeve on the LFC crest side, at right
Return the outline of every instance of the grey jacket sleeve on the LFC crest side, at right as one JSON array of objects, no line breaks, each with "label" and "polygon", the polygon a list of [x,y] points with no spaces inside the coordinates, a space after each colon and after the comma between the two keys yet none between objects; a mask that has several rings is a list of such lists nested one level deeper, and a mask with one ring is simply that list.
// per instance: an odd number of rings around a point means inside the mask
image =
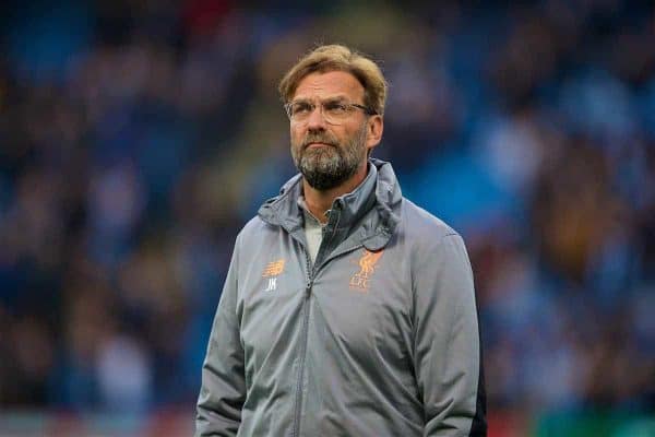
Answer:
[{"label": "grey jacket sleeve on the LFC crest side, at right", "polygon": [[418,253],[414,361],[424,436],[486,436],[486,405],[473,272],[464,241],[445,235]]}]

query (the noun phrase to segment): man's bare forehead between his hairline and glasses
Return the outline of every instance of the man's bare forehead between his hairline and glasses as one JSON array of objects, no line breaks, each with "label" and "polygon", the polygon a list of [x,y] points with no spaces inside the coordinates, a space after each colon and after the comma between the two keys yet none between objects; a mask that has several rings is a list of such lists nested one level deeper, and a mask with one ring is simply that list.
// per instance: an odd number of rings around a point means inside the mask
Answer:
[{"label": "man's bare forehead between his hairline and glasses", "polygon": [[364,97],[364,86],[357,78],[345,71],[314,72],[300,80],[293,98],[333,96],[345,96],[350,101],[358,102]]}]

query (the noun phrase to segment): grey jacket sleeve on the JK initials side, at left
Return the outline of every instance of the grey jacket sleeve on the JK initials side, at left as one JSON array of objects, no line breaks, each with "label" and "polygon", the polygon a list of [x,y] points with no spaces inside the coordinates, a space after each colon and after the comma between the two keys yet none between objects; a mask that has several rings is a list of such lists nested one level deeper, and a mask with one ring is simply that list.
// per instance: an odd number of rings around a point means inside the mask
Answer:
[{"label": "grey jacket sleeve on the JK initials side, at left", "polygon": [[246,400],[243,349],[237,317],[239,238],[214,317],[196,405],[195,436],[236,436]]}]

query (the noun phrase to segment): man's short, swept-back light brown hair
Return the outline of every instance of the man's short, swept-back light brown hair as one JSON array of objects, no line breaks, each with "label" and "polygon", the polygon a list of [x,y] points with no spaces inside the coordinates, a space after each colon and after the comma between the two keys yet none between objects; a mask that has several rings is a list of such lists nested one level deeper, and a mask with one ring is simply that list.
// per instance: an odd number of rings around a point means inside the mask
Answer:
[{"label": "man's short, swept-back light brown hair", "polygon": [[314,48],[287,71],[278,86],[282,102],[290,102],[298,84],[307,75],[330,71],[353,74],[364,86],[364,105],[376,114],[384,115],[388,85],[380,67],[365,55],[337,44]]}]

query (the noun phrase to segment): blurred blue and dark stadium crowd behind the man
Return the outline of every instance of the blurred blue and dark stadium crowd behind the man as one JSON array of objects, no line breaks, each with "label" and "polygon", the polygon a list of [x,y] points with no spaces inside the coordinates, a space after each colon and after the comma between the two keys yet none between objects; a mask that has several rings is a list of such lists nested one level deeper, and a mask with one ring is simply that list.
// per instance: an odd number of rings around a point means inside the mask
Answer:
[{"label": "blurred blue and dark stadium crowd behind the man", "polygon": [[338,42],[467,241],[489,435],[654,436],[655,12],[510,3],[2,2],[0,435],[190,433],[235,235],[294,174],[276,83]]}]

